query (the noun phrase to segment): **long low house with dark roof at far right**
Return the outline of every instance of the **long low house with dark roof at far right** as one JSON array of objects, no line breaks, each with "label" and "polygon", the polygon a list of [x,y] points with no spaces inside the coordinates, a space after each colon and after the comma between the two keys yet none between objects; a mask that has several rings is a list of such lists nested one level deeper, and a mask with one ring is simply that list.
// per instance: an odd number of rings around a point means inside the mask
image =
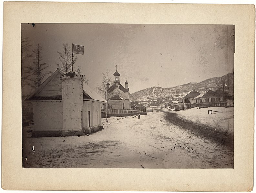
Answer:
[{"label": "long low house with dark roof at far right", "polygon": [[227,106],[227,100],[233,100],[233,96],[223,90],[209,90],[196,96],[194,100],[202,107]]}]

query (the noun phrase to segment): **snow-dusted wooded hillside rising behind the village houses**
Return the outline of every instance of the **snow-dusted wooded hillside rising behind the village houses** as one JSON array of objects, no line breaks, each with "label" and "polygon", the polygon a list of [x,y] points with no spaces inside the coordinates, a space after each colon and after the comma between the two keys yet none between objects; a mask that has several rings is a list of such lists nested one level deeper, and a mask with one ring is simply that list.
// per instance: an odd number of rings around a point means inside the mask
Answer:
[{"label": "snow-dusted wooded hillside rising behind the village houses", "polygon": [[234,92],[234,74],[229,73],[222,77],[209,78],[201,82],[191,82],[176,87],[162,88],[150,87],[144,90],[130,94],[131,101],[156,101],[159,98],[173,99],[182,96],[190,90],[196,90],[200,93],[205,93],[208,90],[223,89],[233,95]]}]

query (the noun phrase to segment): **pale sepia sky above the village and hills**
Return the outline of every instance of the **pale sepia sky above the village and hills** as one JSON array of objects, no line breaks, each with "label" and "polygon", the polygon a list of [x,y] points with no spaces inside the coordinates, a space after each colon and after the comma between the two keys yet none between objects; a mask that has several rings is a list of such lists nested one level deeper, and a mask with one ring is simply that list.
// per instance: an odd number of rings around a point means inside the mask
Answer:
[{"label": "pale sepia sky above the village and hills", "polygon": [[40,43],[42,62],[52,72],[63,43],[84,46],[74,69],[81,66],[94,89],[106,69],[113,76],[116,65],[130,93],[220,77],[234,66],[233,25],[24,23],[21,35],[34,48]]}]

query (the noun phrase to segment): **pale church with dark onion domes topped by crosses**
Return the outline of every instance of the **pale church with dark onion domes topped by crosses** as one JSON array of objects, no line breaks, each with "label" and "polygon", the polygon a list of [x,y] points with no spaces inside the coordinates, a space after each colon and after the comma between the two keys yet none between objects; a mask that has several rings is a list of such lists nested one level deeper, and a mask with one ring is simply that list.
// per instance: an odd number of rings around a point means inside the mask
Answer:
[{"label": "pale church with dark onion domes topped by crosses", "polygon": [[120,84],[120,73],[117,71],[113,74],[115,81],[114,84],[110,86],[107,83],[107,105],[108,109],[130,109],[130,92],[127,80],[125,81],[125,87]]}]

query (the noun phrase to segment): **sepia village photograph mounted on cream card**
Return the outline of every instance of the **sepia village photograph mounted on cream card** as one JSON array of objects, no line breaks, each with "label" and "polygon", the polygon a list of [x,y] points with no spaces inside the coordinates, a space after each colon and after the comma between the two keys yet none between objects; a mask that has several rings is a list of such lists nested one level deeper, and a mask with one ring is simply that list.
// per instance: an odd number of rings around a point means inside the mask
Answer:
[{"label": "sepia village photograph mounted on cream card", "polygon": [[22,23],[23,168],[234,168],[235,25]]}]

